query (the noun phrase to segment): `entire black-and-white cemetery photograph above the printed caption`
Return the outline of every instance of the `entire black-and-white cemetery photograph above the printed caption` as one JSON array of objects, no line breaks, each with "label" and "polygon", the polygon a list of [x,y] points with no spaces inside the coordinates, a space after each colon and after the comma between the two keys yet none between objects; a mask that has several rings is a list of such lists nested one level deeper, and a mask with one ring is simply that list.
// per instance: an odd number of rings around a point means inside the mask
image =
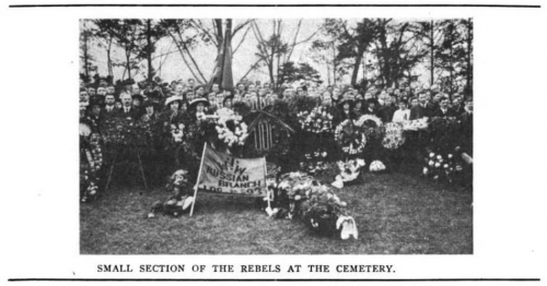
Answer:
[{"label": "entire black-and-white cemetery photograph above the printed caption", "polygon": [[81,253],[473,254],[473,29],[81,20]]}]

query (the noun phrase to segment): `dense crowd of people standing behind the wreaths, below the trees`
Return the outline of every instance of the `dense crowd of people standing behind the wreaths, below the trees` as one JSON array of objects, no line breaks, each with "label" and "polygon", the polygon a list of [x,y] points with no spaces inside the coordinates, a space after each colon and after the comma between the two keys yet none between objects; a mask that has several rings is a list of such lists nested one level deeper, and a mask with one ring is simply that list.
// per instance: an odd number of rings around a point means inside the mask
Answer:
[{"label": "dense crowd of people standing behind the wreaths, below the trees", "polygon": [[[257,110],[277,103],[290,104],[299,98],[312,99],[316,106],[328,110],[333,115],[333,129],[347,119],[358,120],[363,115],[375,116],[384,123],[457,118],[462,126],[462,146],[473,154],[472,94],[463,88],[449,94],[438,85],[426,84],[403,84],[397,88],[372,87],[363,92],[351,86],[326,86],[304,81],[279,88],[270,83],[247,81],[236,84],[234,88],[222,90],[216,83],[198,85],[194,79],[171,83],[163,83],[160,79],[141,83],[118,81],[113,84],[109,78],[95,78],[91,83],[81,81],[80,119],[88,123],[91,133],[98,134],[113,119],[154,126],[156,150],[168,145],[165,142],[189,140],[193,133],[196,134],[191,140],[199,142],[195,145],[200,146],[207,141],[206,134],[198,134],[201,123],[214,120],[220,109],[234,109],[234,106],[244,105],[249,110]],[[293,114],[299,111],[294,110]],[[183,165],[186,169],[195,167],[184,160],[195,160],[196,154],[201,154],[199,150],[184,152],[194,156],[176,156],[172,165]],[[179,167],[175,166],[174,169]],[[166,176],[172,170],[160,172],[163,174],[152,177],[162,178],[162,175]]]}]

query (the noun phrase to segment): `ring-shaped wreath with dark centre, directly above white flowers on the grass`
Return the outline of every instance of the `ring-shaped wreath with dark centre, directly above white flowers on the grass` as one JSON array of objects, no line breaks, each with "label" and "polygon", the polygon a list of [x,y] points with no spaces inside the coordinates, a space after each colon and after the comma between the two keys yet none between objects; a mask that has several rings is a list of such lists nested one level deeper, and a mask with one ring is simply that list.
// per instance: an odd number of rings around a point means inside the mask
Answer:
[{"label": "ring-shaped wreath with dark centre, directly above white flowers on the grass", "polygon": [[360,128],[354,128],[354,123],[350,119],[336,127],[335,141],[341,145],[342,152],[349,155],[363,152],[366,145],[366,136]]}]

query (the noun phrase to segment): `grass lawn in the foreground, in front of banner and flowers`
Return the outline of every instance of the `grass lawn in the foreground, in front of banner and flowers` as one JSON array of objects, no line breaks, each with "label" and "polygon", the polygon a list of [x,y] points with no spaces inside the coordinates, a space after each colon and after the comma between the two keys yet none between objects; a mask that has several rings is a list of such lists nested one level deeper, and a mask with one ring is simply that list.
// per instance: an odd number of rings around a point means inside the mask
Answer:
[{"label": "grass lawn in the foreground, in front of banner and flowers", "polygon": [[144,218],[162,189],[114,187],[80,205],[82,254],[472,254],[473,193],[416,175],[364,174],[345,187],[359,239],[269,218],[252,198],[198,193],[194,217]]}]

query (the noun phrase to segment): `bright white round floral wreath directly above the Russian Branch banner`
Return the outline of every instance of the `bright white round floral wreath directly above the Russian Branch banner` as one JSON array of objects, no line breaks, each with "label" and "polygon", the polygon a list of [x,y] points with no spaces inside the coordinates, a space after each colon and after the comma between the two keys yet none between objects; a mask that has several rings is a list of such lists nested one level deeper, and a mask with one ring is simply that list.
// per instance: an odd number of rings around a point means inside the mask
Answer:
[{"label": "bright white round floral wreath directly above the Russian Branch banner", "polygon": [[222,108],[217,111],[217,132],[219,140],[229,146],[233,144],[244,145],[248,136],[247,124],[242,121],[242,117],[231,109]]}]

